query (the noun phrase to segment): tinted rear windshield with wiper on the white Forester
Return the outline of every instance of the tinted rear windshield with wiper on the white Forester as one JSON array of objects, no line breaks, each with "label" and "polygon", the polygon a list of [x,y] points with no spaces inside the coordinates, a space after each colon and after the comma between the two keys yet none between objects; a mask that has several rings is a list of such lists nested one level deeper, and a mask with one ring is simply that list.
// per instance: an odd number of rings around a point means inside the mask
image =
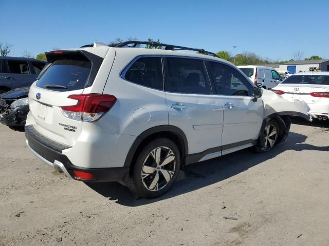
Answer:
[{"label": "tinted rear windshield with wiper on the white Forester", "polygon": [[92,69],[87,58],[57,59],[40,77],[36,86],[54,91],[72,91],[84,89]]}]

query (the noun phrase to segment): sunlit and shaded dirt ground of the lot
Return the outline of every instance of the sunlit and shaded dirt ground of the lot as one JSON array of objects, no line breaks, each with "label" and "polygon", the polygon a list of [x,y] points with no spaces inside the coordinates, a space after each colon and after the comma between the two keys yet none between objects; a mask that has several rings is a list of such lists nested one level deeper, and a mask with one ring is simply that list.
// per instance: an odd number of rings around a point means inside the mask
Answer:
[{"label": "sunlit and shaded dirt ground of the lot", "polygon": [[0,245],[328,245],[328,126],[295,121],[270,153],[189,166],[153,200],[71,180],[0,126]]}]

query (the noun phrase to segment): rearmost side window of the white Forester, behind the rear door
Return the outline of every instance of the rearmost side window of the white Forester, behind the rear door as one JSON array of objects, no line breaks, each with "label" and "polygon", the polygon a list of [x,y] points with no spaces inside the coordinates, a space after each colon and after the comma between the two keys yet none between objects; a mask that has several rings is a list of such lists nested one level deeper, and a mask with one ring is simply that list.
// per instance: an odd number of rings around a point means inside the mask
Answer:
[{"label": "rearmost side window of the white Forester, behind the rear door", "polygon": [[141,86],[163,90],[160,57],[141,57],[125,72],[124,78]]}]

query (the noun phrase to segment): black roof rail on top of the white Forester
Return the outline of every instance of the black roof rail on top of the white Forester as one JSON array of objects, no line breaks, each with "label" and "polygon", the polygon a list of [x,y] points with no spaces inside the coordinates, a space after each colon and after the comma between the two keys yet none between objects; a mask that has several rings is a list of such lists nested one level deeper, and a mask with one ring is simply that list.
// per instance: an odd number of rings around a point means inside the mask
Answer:
[{"label": "black roof rail on top of the white Forester", "polygon": [[[128,46],[132,45],[132,46]],[[206,54],[214,57],[218,57],[215,53],[210,52],[210,51],[205,51],[204,49],[195,49],[195,48],[189,48],[189,47],[184,47],[184,46],[177,46],[177,45],[167,45],[167,44],[162,44],[162,43],[157,43],[157,42],[148,42],[148,41],[127,41],[119,44],[111,44],[109,47],[131,47],[131,48],[139,48],[138,45],[149,45],[153,47],[165,47],[165,50],[193,50],[197,51],[201,54]],[[219,57],[218,57],[219,58]]]}]

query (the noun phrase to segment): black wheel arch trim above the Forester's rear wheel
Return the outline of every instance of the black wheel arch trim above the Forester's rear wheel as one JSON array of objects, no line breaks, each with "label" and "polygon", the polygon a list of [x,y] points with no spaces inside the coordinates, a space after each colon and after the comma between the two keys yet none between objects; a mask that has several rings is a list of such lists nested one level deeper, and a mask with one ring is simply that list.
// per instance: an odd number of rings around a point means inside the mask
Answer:
[{"label": "black wheel arch trim above the Forester's rear wheel", "polygon": [[165,137],[173,140],[177,145],[180,155],[181,155],[181,167],[184,165],[185,156],[188,155],[188,141],[186,138],[185,133],[175,126],[170,125],[162,125],[152,127],[148,130],[142,132],[133,142],[130,150],[124,161],[124,167],[131,167],[134,163],[134,160],[137,157],[138,151],[145,145],[147,142],[160,138]]}]

